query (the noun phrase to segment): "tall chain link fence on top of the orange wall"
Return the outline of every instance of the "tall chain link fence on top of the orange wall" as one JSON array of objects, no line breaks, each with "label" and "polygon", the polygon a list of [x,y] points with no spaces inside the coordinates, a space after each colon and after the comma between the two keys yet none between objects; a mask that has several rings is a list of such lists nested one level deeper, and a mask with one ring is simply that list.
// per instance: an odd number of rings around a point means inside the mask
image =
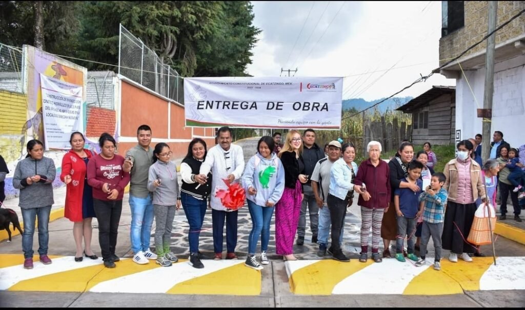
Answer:
[{"label": "tall chain link fence on top of the orange wall", "polygon": [[119,73],[150,90],[184,104],[183,82],[177,71],[120,25]]}]

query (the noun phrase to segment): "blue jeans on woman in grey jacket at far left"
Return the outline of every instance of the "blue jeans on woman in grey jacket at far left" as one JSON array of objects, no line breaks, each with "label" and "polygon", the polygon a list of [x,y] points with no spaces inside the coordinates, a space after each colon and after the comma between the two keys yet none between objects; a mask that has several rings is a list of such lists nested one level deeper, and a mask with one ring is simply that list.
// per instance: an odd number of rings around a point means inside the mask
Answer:
[{"label": "blue jeans on woman in grey jacket at far left", "polygon": [[33,234],[35,233],[36,218],[38,218],[38,254],[47,254],[49,213],[51,213],[51,206],[31,209],[22,208],[22,219],[24,220],[22,250],[24,251],[24,258],[33,258]]}]

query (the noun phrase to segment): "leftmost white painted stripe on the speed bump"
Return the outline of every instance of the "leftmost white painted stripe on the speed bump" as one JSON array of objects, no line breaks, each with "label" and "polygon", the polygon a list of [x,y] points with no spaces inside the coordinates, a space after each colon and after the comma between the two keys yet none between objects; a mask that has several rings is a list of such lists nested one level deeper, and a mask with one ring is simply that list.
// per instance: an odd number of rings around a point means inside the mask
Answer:
[{"label": "leftmost white painted stripe on the speed bump", "polygon": [[0,291],[7,290],[20,281],[38,278],[39,276],[91,267],[98,264],[103,268],[101,258],[94,260],[85,259],[82,262],[76,262],[73,256],[66,256],[54,258],[52,261],[53,263],[49,265],[35,261],[33,269],[24,269],[23,264],[0,269]]}]

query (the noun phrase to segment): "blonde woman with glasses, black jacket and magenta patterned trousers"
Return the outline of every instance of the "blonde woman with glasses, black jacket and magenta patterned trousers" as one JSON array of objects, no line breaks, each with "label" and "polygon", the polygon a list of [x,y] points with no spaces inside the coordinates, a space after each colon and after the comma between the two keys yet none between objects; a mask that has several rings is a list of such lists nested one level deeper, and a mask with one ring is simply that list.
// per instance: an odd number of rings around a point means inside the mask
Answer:
[{"label": "blonde woman with glasses, black jacket and magenta patterned trousers", "polygon": [[275,243],[276,252],[283,260],[297,260],[293,256],[293,238],[297,232],[302,203],[302,185],[308,175],[302,174],[302,139],[297,130],[290,130],[278,157],[285,169],[285,190],[275,205]]}]

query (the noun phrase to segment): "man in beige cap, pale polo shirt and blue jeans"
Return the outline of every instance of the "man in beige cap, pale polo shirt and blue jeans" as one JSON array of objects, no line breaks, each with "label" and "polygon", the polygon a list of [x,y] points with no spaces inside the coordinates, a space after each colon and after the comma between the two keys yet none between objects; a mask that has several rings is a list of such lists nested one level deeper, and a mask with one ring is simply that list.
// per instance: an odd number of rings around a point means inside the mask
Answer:
[{"label": "man in beige cap, pale polo shirt and blue jeans", "polygon": [[[330,187],[330,169],[332,164],[341,157],[341,143],[338,141],[330,141],[328,143],[328,157],[319,160],[312,172],[312,191],[316,197],[317,205],[319,206],[319,232],[317,235],[317,243],[319,243],[318,256],[325,256],[327,253],[328,235],[330,234],[330,211],[327,206],[328,190]],[[342,242],[343,230],[341,227],[341,235],[339,241]]]}]

